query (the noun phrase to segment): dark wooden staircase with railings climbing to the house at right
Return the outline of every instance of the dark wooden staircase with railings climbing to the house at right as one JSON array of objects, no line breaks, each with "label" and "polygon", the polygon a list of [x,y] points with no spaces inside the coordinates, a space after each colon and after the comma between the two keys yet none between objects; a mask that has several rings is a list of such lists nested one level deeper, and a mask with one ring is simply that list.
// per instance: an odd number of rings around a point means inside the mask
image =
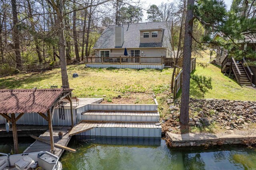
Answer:
[{"label": "dark wooden staircase with railings climbing to the house at right", "polygon": [[236,63],[233,57],[228,57],[223,60],[221,64],[221,71],[222,73],[229,74],[234,73],[237,82],[240,85],[252,86],[252,77],[253,73],[250,68],[246,65],[245,59],[242,59],[242,62]]}]

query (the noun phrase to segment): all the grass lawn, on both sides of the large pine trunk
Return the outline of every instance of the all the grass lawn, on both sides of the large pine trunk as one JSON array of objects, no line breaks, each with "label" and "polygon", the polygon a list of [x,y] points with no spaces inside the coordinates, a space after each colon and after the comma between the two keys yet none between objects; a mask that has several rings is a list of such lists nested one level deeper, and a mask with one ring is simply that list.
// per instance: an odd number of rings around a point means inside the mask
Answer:
[{"label": "all the grass lawn, on both sides of the large pine trunk", "polygon": [[[207,62],[209,58],[198,58],[197,62]],[[70,88],[77,97],[105,97],[106,101],[114,103],[153,103],[152,93],[155,93],[159,103],[166,103],[170,97],[169,85],[172,75],[171,68],[155,69],[113,69],[84,68],[84,65],[68,66]],[[72,78],[73,73],[79,77]],[[223,75],[220,68],[209,64],[207,67],[196,67],[194,74],[212,77],[213,89],[205,94],[205,98],[250,100],[256,101],[256,90],[241,87],[236,81]],[[61,85],[60,69],[41,73],[20,73],[0,78],[0,89],[30,89],[50,88],[51,85]],[[202,98],[193,83],[191,97]],[[121,99],[117,96],[121,95]]]}]

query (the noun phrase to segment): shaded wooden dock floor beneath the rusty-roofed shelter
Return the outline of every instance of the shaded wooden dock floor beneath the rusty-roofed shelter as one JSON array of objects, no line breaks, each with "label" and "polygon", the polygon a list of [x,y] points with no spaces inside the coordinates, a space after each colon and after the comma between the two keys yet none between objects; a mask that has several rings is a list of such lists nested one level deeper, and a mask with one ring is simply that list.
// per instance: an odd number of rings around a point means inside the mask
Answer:
[{"label": "shaded wooden dock floor beneath the rusty-roofed shelter", "polygon": [[[16,125],[18,136],[30,136],[34,134],[39,136],[48,130],[48,125]],[[54,129],[70,128],[69,126],[52,126]],[[12,125],[10,125],[9,133],[6,132],[5,124],[0,124],[0,138],[12,137]]]}]

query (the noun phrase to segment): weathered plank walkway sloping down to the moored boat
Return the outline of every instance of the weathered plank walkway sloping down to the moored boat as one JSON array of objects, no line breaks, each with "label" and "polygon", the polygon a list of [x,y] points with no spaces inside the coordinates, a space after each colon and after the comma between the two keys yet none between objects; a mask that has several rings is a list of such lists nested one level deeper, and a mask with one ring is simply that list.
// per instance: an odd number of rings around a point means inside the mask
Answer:
[{"label": "weathered plank walkway sloping down to the moored boat", "polygon": [[[63,133],[63,138],[62,139],[59,139],[59,136],[58,136],[58,132],[60,132],[60,131]],[[68,142],[71,139],[71,136],[68,135],[68,132],[69,132],[69,128],[62,128],[62,129],[54,129],[53,128],[54,143],[61,144],[63,146],[67,146]],[[39,137],[42,138],[42,139],[50,141],[49,130],[44,132],[44,134],[41,134]],[[54,154],[60,158],[60,156],[64,152],[64,149],[60,149],[60,148],[56,148],[56,147],[54,149],[55,149]],[[51,150],[50,144],[47,144],[47,143],[36,140],[28,148],[26,148],[26,150],[24,150],[23,153],[39,152],[39,151],[48,151],[48,152],[50,152],[50,150]]]}]

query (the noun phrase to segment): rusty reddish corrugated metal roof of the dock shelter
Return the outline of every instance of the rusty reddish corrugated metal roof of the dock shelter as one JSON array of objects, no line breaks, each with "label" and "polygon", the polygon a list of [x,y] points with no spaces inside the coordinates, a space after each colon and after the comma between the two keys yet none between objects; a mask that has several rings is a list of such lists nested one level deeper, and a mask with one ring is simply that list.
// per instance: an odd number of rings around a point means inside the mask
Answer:
[{"label": "rusty reddish corrugated metal roof of the dock shelter", "polygon": [[0,90],[0,113],[46,113],[63,92],[72,89]]}]

